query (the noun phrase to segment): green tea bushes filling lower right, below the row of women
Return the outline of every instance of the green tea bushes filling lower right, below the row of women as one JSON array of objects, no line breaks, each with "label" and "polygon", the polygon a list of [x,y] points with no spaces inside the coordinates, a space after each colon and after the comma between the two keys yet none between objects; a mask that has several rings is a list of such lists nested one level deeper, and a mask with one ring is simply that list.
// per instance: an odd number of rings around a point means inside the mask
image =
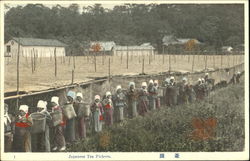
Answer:
[{"label": "green tea bushes filling lower right, below the row of women", "polygon": [[[217,121],[214,137],[198,139],[192,120]],[[69,147],[72,152],[214,152],[244,149],[244,82],[217,90],[204,101],[162,107],[145,117],[115,124]]]}]

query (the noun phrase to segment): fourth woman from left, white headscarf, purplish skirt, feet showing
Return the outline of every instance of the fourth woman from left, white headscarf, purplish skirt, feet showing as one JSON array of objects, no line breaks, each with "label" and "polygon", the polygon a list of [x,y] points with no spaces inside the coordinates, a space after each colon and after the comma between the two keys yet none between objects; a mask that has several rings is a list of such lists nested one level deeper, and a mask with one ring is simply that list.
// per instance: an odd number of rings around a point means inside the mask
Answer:
[{"label": "fourth woman from left, white headscarf, purplish skirt, feet showing", "polygon": [[[59,106],[59,97],[53,96],[51,98],[52,112],[60,112],[63,116],[62,108]],[[64,138],[64,128],[66,125],[66,118],[63,116],[61,122],[54,126],[54,148],[53,151],[66,150],[66,143]]]}]

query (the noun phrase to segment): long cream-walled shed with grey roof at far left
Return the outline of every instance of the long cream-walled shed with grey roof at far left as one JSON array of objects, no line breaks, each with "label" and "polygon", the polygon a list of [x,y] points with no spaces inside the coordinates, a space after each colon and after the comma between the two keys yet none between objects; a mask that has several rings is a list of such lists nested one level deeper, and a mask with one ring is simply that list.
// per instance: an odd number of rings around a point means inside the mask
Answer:
[{"label": "long cream-walled shed with grey roof at far left", "polygon": [[20,43],[20,56],[30,57],[34,53],[37,57],[50,57],[54,55],[65,56],[66,44],[55,39],[17,38],[13,37],[5,45],[5,55],[16,56]]}]

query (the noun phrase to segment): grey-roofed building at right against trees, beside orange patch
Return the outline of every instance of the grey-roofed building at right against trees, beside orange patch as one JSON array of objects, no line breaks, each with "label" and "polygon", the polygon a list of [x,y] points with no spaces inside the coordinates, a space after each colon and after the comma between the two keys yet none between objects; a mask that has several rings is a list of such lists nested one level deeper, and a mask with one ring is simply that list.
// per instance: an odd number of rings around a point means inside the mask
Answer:
[{"label": "grey-roofed building at right against trees, beside orange patch", "polygon": [[167,35],[162,38],[162,49],[163,53],[181,53],[186,49],[186,44],[190,41],[193,41],[195,45],[202,45],[202,43],[195,38],[176,38],[173,35]]}]

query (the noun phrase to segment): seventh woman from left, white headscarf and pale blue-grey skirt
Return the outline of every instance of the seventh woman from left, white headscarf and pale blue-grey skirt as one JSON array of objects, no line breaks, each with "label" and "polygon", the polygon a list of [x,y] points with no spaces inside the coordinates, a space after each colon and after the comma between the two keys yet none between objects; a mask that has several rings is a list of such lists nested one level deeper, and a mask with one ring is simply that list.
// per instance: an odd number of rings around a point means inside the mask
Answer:
[{"label": "seventh woman from left, white headscarf and pale blue-grey skirt", "polygon": [[95,96],[95,101],[90,106],[92,117],[93,117],[93,126],[95,132],[101,132],[102,131],[102,121],[103,121],[103,107],[101,104],[100,96]]}]

